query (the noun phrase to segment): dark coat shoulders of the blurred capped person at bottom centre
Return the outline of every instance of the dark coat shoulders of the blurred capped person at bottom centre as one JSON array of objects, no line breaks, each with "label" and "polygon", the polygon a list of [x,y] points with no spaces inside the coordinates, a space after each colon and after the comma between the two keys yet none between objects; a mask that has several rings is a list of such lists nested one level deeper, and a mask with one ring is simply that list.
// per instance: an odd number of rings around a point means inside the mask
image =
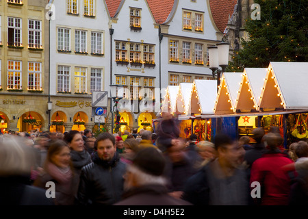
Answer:
[{"label": "dark coat shoulders of the blurred capped person at bottom centre", "polygon": [[123,194],[123,200],[114,205],[192,205],[168,195],[164,185],[143,185]]}]

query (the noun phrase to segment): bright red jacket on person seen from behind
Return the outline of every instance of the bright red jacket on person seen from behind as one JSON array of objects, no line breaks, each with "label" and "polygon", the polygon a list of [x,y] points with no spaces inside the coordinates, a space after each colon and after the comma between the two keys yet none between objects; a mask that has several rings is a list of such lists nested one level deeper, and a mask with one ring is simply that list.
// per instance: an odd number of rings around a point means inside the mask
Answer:
[{"label": "bright red jacket on person seen from behind", "polygon": [[253,163],[251,183],[261,184],[261,205],[288,205],[291,179],[282,167],[292,163],[283,153],[265,153]]}]

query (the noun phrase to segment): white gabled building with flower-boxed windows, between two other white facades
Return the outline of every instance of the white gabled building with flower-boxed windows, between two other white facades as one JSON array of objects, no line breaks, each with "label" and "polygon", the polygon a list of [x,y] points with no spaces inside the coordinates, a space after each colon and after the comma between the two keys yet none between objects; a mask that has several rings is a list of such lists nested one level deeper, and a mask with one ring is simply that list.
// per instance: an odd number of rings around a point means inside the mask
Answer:
[{"label": "white gabled building with flower-boxed windows, between two other white facades", "polygon": [[[131,131],[133,127],[151,130],[155,99],[159,111],[158,26],[145,0],[106,3],[112,29],[110,83],[125,88],[119,103],[120,123],[124,124],[120,130]],[[115,12],[114,5],[118,6]]]}]

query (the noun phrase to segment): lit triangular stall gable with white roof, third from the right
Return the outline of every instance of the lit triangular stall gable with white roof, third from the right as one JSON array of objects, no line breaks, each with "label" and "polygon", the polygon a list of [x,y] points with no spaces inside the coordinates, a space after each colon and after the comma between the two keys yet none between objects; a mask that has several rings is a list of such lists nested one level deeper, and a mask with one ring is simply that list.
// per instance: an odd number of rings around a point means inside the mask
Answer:
[{"label": "lit triangular stall gable with white roof, third from the right", "polygon": [[240,88],[242,73],[223,73],[214,107],[215,114],[235,112],[236,97]]}]

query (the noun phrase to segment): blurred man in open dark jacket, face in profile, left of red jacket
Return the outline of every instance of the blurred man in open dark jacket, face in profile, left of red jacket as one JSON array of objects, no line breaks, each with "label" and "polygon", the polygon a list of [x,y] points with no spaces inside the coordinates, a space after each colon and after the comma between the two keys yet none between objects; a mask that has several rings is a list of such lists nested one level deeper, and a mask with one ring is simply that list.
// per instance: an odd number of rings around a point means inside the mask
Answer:
[{"label": "blurred man in open dark jacket, face in profile, left of red jacket", "polygon": [[182,198],[193,205],[248,205],[249,181],[241,168],[243,147],[221,133],[214,144],[218,157],[188,179]]}]

